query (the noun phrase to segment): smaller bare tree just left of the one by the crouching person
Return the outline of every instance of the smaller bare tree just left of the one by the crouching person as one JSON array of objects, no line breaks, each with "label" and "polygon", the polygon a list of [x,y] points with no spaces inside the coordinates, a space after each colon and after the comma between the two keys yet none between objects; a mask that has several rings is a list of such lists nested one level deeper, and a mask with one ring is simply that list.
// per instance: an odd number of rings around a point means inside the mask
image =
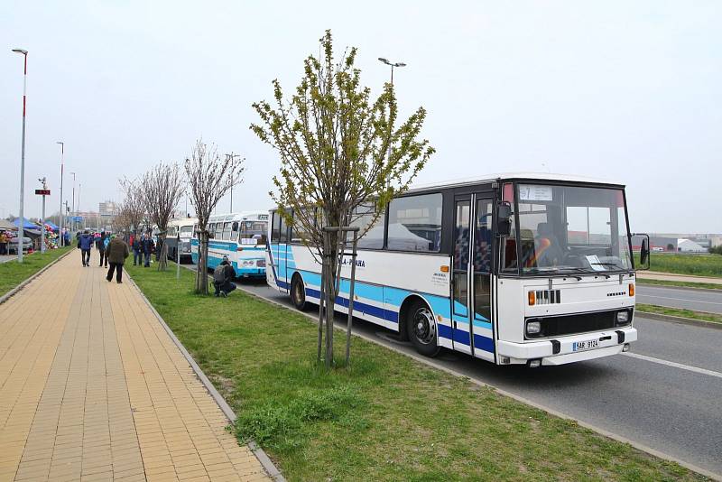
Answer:
[{"label": "smaller bare tree just left of the one by the crouching person", "polygon": [[139,183],[148,218],[158,227],[159,246],[155,247],[160,250],[158,270],[165,271],[168,266],[168,246],[165,245],[168,221],[171,220],[173,210],[185,191],[185,181],[178,163],[159,162],[152,170],[143,174]]}]

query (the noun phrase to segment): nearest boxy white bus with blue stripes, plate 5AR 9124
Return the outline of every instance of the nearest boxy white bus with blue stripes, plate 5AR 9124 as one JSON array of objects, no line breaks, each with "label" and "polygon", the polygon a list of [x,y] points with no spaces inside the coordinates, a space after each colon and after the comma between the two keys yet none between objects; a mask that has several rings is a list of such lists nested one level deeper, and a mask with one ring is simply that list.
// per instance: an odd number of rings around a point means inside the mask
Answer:
[{"label": "nearest boxy white bus with blue stripes, plate 5AR 9124", "polygon": [[[358,243],[354,314],[421,354],[562,365],[637,339],[624,185],[505,174],[408,190],[383,209]],[[266,279],[302,310],[319,302],[320,265],[303,234],[271,216]],[[337,311],[349,276],[345,265]]]}]

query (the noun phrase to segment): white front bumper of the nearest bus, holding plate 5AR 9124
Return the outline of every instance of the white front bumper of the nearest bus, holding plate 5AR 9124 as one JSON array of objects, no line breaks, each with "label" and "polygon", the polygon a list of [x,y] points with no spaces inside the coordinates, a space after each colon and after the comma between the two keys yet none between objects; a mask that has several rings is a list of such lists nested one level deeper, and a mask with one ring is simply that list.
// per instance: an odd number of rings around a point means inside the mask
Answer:
[{"label": "white front bumper of the nearest bus, holding plate 5AR 9124", "polygon": [[[541,360],[542,365],[565,365],[622,353],[625,345],[636,339],[637,330],[625,327],[526,343],[499,340],[497,359],[502,365],[526,364],[529,360]],[[589,341],[596,342],[596,347],[578,349],[580,343],[588,344]]]}]

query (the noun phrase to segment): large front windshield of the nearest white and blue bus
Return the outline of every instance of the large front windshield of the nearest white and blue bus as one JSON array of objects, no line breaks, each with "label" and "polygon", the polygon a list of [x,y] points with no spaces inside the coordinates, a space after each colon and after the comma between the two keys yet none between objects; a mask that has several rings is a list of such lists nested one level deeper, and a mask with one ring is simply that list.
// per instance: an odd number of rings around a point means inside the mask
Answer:
[{"label": "large front windshield of the nearest white and blue bus", "polygon": [[518,184],[522,274],[628,271],[621,189]]}]

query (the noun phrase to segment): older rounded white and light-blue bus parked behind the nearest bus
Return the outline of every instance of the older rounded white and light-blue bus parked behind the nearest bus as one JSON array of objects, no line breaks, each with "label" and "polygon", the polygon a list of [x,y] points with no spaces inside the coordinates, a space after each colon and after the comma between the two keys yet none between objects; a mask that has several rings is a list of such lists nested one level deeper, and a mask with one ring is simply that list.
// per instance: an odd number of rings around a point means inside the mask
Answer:
[{"label": "older rounded white and light-blue bus parked behind the nearest bus", "polygon": [[[211,216],[208,220],[208,268],[228,256],[238,278],[265,278],[267,211],[245,211]],[[190,255],[198,264],[198,227],[190,241]]]}]

